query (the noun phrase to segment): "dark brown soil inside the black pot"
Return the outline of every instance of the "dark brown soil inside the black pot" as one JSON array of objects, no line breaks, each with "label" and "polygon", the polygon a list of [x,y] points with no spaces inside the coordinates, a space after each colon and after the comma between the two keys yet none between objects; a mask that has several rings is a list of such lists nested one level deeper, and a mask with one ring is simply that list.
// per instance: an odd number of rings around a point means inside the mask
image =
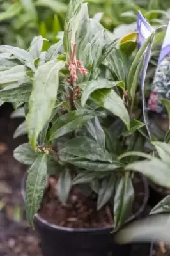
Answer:
[{"label": "dark brown soil inside the black pot", "polygon": [[[59,202],[57,196],[57,179],[50,178],[39,214],[49,223],[72,228],[102,228],[113,227],[112,205],[106,204],[97,211],[97,195],[84,195],[78,186],[70,191],[68,203],[65,207]],[[144,184],[139,177],[134,179],[135,200],[130,216],[135,214],[143,204]]]}]

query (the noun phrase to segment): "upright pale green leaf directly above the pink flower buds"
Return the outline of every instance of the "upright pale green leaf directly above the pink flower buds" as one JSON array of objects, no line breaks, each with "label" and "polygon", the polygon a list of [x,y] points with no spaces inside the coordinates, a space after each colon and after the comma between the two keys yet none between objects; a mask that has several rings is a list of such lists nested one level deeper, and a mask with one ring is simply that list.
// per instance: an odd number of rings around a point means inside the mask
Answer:
[{"label": "upright pale green leaf directly above the pink flower buds", "polygon": [[[79,14],[81,10],[82,0],[70,0],[68,4],[68,10],[65,19],[65,28],[64,28],[64,48],[65,52],[71,56],[71,39],[72,39],[72,30],[73,30],[73,20]],[[74,31],[75,33],[75,31]]]}]

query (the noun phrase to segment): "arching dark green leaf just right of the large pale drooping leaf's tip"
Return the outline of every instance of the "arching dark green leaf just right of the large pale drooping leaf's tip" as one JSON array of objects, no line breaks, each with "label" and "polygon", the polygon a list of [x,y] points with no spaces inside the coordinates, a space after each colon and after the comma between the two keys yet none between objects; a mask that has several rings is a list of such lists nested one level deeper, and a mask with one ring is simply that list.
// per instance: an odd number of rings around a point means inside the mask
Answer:
[{"label": "arching dark green leaf just right of the large pale drooping leaf's tip", "polygon": [[62,115],[56,120],[50,129],[50,140],[72,132],[75,129],[85,125],[95,116],[100,116],[102,113],[92,110],[75,110]]}]

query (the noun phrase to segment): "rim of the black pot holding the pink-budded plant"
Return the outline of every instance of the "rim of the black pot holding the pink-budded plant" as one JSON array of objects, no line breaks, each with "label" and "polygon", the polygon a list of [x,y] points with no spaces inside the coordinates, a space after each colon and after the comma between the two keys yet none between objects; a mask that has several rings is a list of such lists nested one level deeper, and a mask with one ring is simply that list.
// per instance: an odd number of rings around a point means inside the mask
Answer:
[{"label": "rim of the black pot holding the pink-budded plant", "polygon": [[[127,224],[130,221],[134,220],[134,218],[137,218],[144,211],[144,208],[146,207],[146,204],[148,202],[148,198],[149,198],[148,180],[141,173],[139,173],[139,176],[141,177],[141,181],[143,182],[143,185],[144,185],[143,204],[141,205],[141,207],[139,207],[139,210],[137,212],[135,212],[135,214],[130,216],[125,221],[125,224]],[[24,173],[24,176],[23,176],[22,181],[21,181],[21,195],[22,195],[22,198],[23,198],[24,202],[25,202],[25,198],[26,198],[26,193],[25,193],[26,177],[27,177],[27,172]],[[68,232],[97,232],[97,231],[100,232],[100,231],[105,231],[105,230],[114,230],[114,227],[103,227],[103,228],[70,228],[70,227],[61,227],[61,226],[58,226],[56,224],[49,223],[44,218],[40,217],[40,214],[38,214],[38,213],[35,214],[35,220],[42,222],[44,225],[47,225],[47,227],[49,227],[49,228],[63,230],[63,231],[68,231]]]}]

